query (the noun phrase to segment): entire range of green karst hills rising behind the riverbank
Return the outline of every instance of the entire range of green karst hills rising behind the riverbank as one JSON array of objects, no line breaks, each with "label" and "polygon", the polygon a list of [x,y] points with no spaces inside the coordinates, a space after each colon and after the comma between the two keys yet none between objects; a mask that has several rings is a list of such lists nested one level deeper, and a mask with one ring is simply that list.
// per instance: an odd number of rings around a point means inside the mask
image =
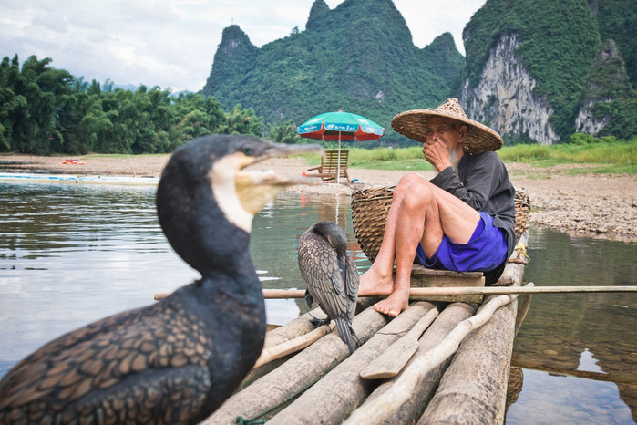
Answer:
[{"label": "entire range of green karst hills rising behind the riverbank", "polygon": [[415,47],[391,0],[315,0],[306,29],[255,47],[223,32],[202,92],[266,122],[344,109],[385,127],[403,110],[457,97],[508,142],[568,141],[576,131],[637,136],[634,0],[488,0],[463,35]]}]

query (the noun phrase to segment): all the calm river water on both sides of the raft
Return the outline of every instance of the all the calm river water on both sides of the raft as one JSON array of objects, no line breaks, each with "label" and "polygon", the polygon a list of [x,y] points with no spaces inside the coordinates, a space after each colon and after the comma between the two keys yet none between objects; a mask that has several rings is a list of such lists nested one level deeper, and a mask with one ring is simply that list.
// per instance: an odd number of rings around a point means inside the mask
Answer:
[{"label": "all the calm river water on both sides of the raft", "polygon": [[[154,187],[0,183],[0,377],[53,337],[153,303],[197,278],[159,229]],[[253,223],[265,288],[304,288],[299,236],[344,227],[362,273],[349,198],[283,192]],[[637,244],[531,227],[525,279],[536,285],[637,285]],[[268,300],[268,323],[306,311]],[[534,295],[516,338],[509,423],[634,423],[637,294]]]}]

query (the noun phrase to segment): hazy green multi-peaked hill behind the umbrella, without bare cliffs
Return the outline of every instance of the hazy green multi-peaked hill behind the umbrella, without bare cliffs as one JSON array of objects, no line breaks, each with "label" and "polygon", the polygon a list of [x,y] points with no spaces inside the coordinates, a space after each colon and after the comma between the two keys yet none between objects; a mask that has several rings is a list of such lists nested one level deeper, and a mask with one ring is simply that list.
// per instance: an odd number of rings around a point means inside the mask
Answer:
[{"label": "hazy green multi-peaked hill behind the umbrella, without bare cliffs", "polygon": [[345,0],[332,10],[316,0],[303,32],[261,48],[239,26],[227,27],[202,92],[271,123],[299,125],[343,109],[374,119],[389,138],[391,118],[437,106],[457,87],[463,64],[448,33],[414,46],[391,0]]}]

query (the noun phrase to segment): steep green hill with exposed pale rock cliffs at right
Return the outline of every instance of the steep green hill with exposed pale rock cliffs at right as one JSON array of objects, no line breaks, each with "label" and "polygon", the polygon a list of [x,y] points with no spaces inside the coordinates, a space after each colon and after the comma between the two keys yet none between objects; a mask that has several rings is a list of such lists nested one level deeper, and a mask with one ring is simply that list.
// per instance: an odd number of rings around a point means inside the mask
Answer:
[{"label": "steep green hill with exposed pale rock cliffs at right", "polygon": [[460,101],[513,138],[635,137],[635,26],[634,0],[488,0],[463,33]]}]

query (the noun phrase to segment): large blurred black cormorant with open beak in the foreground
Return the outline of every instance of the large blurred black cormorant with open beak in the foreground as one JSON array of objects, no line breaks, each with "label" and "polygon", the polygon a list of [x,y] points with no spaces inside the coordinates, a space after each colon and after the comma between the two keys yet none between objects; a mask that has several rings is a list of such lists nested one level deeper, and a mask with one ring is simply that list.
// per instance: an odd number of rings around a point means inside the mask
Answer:
[{"label": "large blurred black cormorant with open beak in the foreground", "polygon": [[265,334],[249,254],[253,214],[303,182],[241,169],[317,150],[228,135],[175,150],[159,181],[159,223],[201,278],[23,359],[0,381],[0,423],[196,423],[219,407],[261,354]]}]

